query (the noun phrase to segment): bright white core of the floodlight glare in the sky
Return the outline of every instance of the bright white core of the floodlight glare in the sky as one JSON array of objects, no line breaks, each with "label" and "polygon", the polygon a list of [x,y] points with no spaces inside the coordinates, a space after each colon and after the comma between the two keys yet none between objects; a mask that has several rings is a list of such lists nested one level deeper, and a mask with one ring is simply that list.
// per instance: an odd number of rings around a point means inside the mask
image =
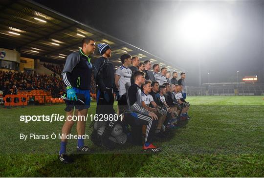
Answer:
[{"label": "bright white core of the floodlight glare in the sky", "polygon": [[220,19],[216,13],[201,7],[184,12],[178,23],[178,35],[182,41],[196,46],[213,40],[219,31]]}]

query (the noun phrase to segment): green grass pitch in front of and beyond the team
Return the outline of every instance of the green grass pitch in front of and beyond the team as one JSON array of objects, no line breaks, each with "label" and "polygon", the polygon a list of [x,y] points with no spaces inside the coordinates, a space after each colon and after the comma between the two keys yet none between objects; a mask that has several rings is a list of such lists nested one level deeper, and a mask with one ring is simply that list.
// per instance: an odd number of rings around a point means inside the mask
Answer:
[{"label": "green grass pitch in front of and beyond the team", "polygon": [[[19,138],[20,133],[60,133],[63,122],[23,123],[19,118],[64,115],[64,105],[0,108],[0,177],[264,177],[263,99],[188,97],[193,119],[170,138],[155,142],[161,154],[144,154],[129,143],[110,152],[87,140],[96,152],[76,155],[76,140],[69,140],[67,151],[75,158],[71,165],[57,159],[59,139]],[[95,103],[89,112],[95,112]]]}]

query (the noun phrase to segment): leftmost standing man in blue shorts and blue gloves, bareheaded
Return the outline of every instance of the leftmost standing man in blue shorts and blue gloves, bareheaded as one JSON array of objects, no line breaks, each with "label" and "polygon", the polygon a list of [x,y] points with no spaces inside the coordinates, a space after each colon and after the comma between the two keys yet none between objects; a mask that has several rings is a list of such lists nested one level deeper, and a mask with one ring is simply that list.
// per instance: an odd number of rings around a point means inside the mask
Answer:
[{"label": "leftmost standing man in blue shorts and blue gloves, bareheaded", "polygon": [[[66,101],[66,121],[62,128],[62,135],[68,135],[73,126],[73,121],[70,120],[73,115],[87,116],[88,108],[90,107],[90,82],[92,74],[92,64],[90,63],[90,54],[95,50],[95,40],[84,38],[82,40],[82,49],[71,53],[67,59],[62,72],[63,81],[67,89]],[[77,96],[83,96],[85,103],[83,105],[75,105],[78,100]],[[69,118],[69,119],[67,119]],[[78,136],[85,135],[85,120],[77,121]],[[61,148],[59,159],[63,163],[70,163],[72,159],[66,155],[66,138],[61,140]],[[77,151],[88,153],[90,149],[84,145],[84,139],[78,138]]]}]

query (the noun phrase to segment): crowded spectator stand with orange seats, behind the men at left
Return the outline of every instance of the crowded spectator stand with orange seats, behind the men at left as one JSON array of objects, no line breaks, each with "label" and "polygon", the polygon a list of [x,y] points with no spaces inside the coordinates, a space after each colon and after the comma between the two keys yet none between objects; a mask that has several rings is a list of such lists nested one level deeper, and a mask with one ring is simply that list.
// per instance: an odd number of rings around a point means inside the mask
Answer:
[{"label": "crowded spectator stand with orange seats, behind the men at left", "polygon": [[[95,82],[92,80],[91,97],[96,99]],[[58,75],[28,74],[24,72],[0,70],[0,93],[2,97],[13,94],[13,85],[18,89],[17,95],[26,95],[28,101],[35,103],[61,103],[65,91],[62,78]]]}]

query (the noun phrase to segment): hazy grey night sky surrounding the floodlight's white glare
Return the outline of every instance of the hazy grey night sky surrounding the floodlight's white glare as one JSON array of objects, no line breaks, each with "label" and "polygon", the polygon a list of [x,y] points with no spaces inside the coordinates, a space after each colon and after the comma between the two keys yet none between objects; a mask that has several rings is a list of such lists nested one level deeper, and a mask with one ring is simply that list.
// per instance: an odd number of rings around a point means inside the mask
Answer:
[{"label": "hazy grey night sky surrounding the floodlight's white glare", "polygon": [[[208,82],[208,72],[210,82],[235,82],[237,71],[239,78],[264,77],[263,0],[35,1],[184,68],[188,85],[198,85],[199,60],[202,83]],[[221,20],[215,20],[218,32],[195,49],[176,35],[180,18],[188,16],[192,8],[217,12]]]}]

